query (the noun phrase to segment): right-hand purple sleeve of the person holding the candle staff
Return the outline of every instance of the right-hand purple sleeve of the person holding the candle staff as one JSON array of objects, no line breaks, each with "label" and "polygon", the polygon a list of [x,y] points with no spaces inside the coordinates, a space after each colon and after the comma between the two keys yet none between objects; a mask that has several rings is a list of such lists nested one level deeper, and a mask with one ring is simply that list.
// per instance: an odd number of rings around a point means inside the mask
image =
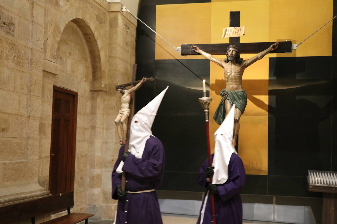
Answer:
[{"label": "right-hand purple sleeve of the person holding the candle staff", "polygon": [[219,196],[222,201],[226,201],[234,195],[239,194],[246,181],[245,168],[237,154],[233,153],[229,161],[228,173],[229,172],[228,180],[231,181],[218,185]]}]

